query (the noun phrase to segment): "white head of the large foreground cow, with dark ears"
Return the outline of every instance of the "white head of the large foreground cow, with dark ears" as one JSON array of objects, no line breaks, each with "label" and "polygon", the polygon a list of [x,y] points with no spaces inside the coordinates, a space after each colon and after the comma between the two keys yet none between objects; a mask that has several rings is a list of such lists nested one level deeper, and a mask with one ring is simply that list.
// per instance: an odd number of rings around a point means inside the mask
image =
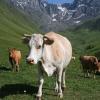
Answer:
[{"label": "white head of the large foreground cow, with dark ears", "polygon": [[47,36],[41,34],[33,34],[31,36],[25,36],[23,38],[29,45],[29,55],[27,57],[27,62],[30,64],[37,64],[42,58],[44,45],[51,45],[54,41]]}]

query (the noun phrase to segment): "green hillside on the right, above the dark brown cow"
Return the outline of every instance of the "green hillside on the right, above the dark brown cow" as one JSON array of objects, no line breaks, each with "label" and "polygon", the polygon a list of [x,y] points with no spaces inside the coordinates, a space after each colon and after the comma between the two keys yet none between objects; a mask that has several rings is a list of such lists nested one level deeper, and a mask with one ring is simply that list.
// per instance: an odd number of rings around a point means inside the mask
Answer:
[{"label": "green hillside on the right, above the dark brown cow", "polygon": [[[89,20],[72,31],[78,41],[78,50],[100,58],[100,18]],[[77,49],[76,49],[77,50]]]}]

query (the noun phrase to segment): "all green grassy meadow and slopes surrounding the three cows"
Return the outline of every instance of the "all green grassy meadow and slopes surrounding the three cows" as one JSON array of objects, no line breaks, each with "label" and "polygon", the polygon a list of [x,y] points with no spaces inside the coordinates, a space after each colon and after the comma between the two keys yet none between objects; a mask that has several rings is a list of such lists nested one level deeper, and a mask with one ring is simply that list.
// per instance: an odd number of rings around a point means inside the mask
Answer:
[{"label": "all green grassy meadow and slopes surrounding the three cows", "polygon": [[[22,43],[24,33],[39,32],[23,12],[0,0],[0,100],[35,100],[37,92],[37,66],[25,62],[28,48]],[[71,41],[72,60],[66,70],[66,89],[63,100],[100,100],[100,75],[96,79],[84,78],[79,62],[80,55],[100,58],[100,19],[88,21],[81,26],[59,32]],[[16,47],[22,52],[19,72],[12,72],[8,61],[8,48]],[[43,100],[59,100],[54,92],[55,77],[45,77]],[[26,90],[26,91],[25,91]]]}]

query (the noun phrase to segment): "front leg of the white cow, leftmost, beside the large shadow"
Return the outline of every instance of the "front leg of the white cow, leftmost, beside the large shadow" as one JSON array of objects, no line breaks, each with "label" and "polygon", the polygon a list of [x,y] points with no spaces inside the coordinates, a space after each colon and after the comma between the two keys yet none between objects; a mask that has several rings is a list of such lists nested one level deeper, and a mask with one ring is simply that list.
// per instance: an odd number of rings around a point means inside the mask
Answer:
[{"label": "front leg of the white cow, leftmost, beside the large shadow", "polygon": [[44,79],[43,79],[43,71],[41,69],[41,67],[38,67],[38,72],[39,72],[39,89],[38,89],[38,93],[37,93],[37,99],[41,100],[42,97],[42,86],[44,83]]}]

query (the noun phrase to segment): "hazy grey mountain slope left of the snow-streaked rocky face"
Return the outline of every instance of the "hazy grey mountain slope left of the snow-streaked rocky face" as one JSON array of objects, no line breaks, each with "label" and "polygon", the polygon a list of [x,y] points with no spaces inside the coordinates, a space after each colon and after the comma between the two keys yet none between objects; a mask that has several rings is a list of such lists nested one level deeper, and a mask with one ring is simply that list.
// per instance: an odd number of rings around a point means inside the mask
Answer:
[{"label": "hazy grey mountain slope left of the snow-streaked rocky face", "polygon": [[51,17],[46,12],[44,0],[8,0],[9,5],[23,11],[38,23],[42,31],[58,30],[61,25],[58,22],[53,23]]}]

